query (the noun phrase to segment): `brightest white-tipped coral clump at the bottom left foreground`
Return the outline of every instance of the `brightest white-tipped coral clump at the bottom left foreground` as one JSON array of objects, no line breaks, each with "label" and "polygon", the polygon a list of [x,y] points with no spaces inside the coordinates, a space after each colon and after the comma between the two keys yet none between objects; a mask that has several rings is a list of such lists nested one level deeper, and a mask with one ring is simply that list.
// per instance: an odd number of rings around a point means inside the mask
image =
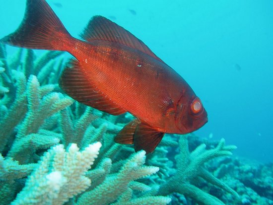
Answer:
[{"label": "brightest white-tipped coral clump at the bottom left foreground", "polygon": [[100,142],[79,151],[71,144],[68,151],[60,144],[45,153],[39,167],[28,177],[23,190],[11,205],[62,205],[86,190],[91,180],[85,177],[98,151]]}]

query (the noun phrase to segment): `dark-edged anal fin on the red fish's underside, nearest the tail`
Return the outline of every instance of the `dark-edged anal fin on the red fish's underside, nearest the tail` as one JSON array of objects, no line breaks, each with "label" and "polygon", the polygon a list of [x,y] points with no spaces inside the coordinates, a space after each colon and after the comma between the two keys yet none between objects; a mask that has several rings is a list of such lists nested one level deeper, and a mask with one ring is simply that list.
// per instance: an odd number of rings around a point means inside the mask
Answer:
[{"label": "dark-edged anal fin on the red fish's underside, nearest the tail", "polygon": [[115,104],[96,86],[92,85],[80,68],[77,60],[71,60],[59,80],[60,87],[73,99],[112,115],[126,112]]}]

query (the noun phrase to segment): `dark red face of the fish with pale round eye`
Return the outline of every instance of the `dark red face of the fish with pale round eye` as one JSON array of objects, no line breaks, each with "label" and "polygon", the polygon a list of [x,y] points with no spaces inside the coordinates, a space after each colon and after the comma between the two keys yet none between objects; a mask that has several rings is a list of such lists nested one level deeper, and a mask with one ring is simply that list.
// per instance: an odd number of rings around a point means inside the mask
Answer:
[{"label": "dark red face of the fish with pale round eye", "polygon": [[176,126],[181,134],[192,133],[207,122],[207,113],[199,97],[192,92],[182,95],[177,104]]}]

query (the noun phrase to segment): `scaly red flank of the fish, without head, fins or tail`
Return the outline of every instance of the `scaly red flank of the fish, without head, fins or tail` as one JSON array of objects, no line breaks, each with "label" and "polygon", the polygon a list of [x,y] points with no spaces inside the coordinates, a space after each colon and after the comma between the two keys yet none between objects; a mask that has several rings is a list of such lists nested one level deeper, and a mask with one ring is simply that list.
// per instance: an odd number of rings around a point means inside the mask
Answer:
[{"label": "scaly red flank of the fish, without head, fins or tail", "polygon": [[92,42],[80,50],[80,56],[75,50],[70,53],[79,60],[86,78],[119,107],[161,132],[183,132],[174,126],[174,118],[164,115],[170,100],[177,104],[187,89],[185,80],[173,69],[149,55],[111,42]]}]

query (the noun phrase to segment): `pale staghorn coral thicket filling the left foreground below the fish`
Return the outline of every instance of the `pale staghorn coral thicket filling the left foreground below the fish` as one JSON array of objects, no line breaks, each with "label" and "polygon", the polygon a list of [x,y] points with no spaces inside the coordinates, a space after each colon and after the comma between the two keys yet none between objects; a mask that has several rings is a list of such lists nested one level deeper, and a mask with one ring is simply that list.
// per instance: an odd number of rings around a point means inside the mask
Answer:
[{"label": "pale staghorn coral thicket filling the left foreground below the fish", "polygon": [[[60,54],[36,58],[20,49],[10,60],[0,46],[0,204],[168,204],[136,181],[159,170],[144,165],[144,151],[118,161],[121,145],[113,136],[124,123],[60,92]],[[99,157],[96,141],[103,143]]]}]

